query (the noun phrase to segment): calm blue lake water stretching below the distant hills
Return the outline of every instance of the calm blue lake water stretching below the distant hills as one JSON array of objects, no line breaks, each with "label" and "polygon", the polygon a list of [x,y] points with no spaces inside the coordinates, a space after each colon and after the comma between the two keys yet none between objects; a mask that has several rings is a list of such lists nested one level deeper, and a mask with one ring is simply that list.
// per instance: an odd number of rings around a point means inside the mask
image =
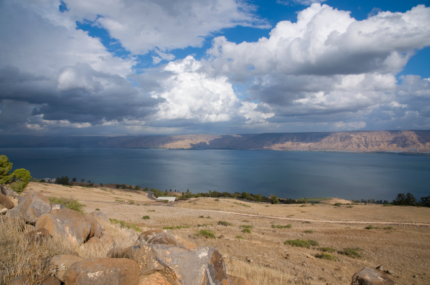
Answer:
[{"label": "calm blue lake water stretching below the distant hills", "polygon": [[179,191],[282,198],[389,200],[430,195],[430,158],[400,155],[162,149],[0,149],[33,177],[68,176]]}]

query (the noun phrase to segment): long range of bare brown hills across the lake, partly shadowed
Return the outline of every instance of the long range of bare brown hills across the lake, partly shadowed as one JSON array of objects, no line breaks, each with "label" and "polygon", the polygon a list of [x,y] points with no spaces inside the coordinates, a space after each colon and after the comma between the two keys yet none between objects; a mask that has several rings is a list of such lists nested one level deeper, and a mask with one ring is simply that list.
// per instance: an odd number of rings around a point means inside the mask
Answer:
[{"label": "long range of bare brown hills across the lake, partly shadowed", "polygon": [[155,136],[17,135],[3,136],[0,139],[0,148],[38,147],[430,152],[430,130]]}]

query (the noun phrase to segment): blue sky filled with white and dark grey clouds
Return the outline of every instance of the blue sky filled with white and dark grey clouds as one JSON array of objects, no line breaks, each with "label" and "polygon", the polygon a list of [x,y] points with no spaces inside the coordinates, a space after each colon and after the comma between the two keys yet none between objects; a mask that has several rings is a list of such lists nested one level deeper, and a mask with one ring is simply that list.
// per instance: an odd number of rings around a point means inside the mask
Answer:
[{"label": "blue sky filled with white and dark grey clouds", "polygon": [[0,0],[0,135],[430,129],[430,0]]}]

